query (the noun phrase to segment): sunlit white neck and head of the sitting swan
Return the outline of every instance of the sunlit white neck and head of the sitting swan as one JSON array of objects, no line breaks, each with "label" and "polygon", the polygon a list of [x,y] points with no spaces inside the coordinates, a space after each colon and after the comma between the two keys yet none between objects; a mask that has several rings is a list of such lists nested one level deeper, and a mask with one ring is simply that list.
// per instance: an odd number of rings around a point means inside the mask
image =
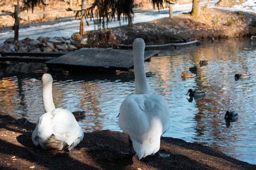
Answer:
[{"label": "sunlit white neck and head of the sitting swan", "polygon": [[43,96],[43,106],[45,113],[51,112],[55,109],[53,97],[52,97],[52,76],[48,73],[45,73],[42,77],[42,96]]}]

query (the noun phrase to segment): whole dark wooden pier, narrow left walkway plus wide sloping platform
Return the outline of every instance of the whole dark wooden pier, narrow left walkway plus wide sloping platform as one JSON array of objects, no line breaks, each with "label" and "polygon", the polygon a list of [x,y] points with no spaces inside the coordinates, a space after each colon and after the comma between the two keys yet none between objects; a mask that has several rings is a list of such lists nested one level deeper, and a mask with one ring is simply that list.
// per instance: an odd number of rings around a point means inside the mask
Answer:
[{"label": "whole dark wooden pier, narrow left walkway plus wide sloping platform", "polygon": [[[144,61],[160,51],[145,51]],[[69,53],[1,53],[0,61],[44,62],[49,68],[69,71],[128,71],[133,68],[132,50],[121,49],[81,49]]]}]

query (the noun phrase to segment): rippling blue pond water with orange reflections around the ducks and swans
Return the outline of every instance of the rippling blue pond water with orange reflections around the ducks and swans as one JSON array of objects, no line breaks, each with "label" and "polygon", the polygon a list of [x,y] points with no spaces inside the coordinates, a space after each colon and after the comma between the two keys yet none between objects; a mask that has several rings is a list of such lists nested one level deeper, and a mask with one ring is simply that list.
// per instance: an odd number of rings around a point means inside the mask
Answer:
[{"label": "rippling blue pond water with orange reflections around the ducks and swans", "polygon": [[[236,38],[202,42],[200,46],[164,47],[146,62],[147,81],[153,94],[170,106],[171,126],[163,136],[217,148],[225,154],[256,164],[256,40]],[[200,66],[200,60],[209,64]],[[197,66],[195,78],[182,79],[183,71]],[[85,132],[120,131],[117,115],[121,102],[134,93],[132,71],[111,74],[71,74],[49,71],[45,64],[14,64],[0,68],[0,113],[36,123],[44,113],[41,76],[54,78],[55,105],[70,111],[86,110],[79,120]],[[249,79],[234,78],[250,73]],[[189,88],[206,90],[205,97],[189,100]],[[226,125],[227,110],[238,120]]]}]

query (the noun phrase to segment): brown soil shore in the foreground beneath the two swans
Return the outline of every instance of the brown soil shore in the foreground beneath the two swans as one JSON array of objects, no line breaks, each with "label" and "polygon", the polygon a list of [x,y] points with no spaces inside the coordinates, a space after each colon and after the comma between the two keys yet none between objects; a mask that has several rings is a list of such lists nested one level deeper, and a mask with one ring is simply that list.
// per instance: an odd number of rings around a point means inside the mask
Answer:
[{"label": "brown soil shore in the foreground beneath the two swans", "polygon": [[72,152],[45,151],[31,140],[35,124],[27,119],[0,115],[1,170],[255,170],[256,165],[238,161],[222,152],[162,137],[160,152],[170,157],[150,155],[138,160],[129,152],[128,137],[121,132],[99,130],[84,134],[83,141]]}]

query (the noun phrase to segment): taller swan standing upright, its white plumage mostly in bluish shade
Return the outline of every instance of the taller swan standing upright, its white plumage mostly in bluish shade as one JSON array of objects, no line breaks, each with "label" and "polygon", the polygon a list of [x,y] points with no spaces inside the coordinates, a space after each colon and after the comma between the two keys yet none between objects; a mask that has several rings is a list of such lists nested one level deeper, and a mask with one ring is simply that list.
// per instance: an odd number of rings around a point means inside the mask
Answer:
[{"label": "taller swan standing upright, its white plumage mostly in bluish shade", "polygon": [[[136,38],[133,42],[135,94],[122,102],[118,123],[128,135],[129,143],[138,158],[158,152],[160,139],[170,126],[169,106],[158,95],[150,95],[144,66],[145,42]],[[130,143],[131,149],[131,143]]]}]

